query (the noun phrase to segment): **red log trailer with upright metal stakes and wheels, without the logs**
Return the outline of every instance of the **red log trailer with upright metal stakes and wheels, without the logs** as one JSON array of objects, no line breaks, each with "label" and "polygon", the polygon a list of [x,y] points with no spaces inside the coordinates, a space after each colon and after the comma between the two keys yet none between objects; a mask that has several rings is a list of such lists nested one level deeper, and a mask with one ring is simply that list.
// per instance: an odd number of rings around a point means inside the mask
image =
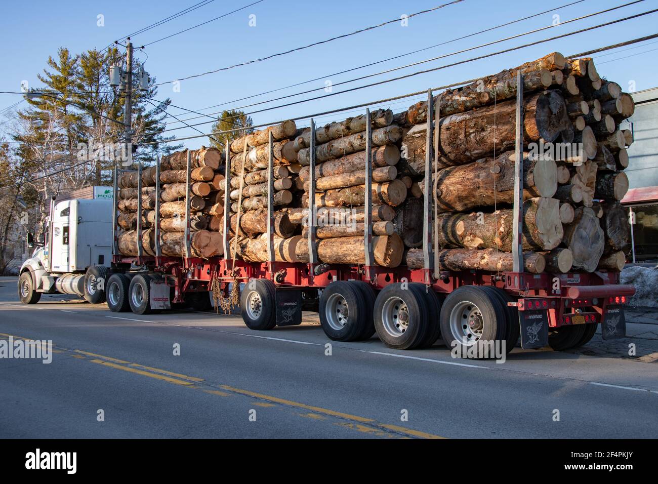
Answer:
[{"label": "red log trailer with upright metal stakes and wheels, without the logs", "polygon": [[[522,85],[517,75],[517,86]],[[224,190],[224,256],[193,257],[190,248],[190,171],[188,151],[186,193],[186,246],[184,257],[161,254],[126,257],[118,250],[117,206],[114,198],[112,259],[108,267],[105,292],[112,311],[156,313],[191,305],[209,309],[213,291],[222,307],[241,290],[240,308],[247,327],[270,330],[278,326],[299,325],[302,310],[314,308],[324,333],[338,341],[366,340],[377,333],[382,342],[397,349],[432,346],[442,338],[447,346],[466,351],[486,342],[505,344],[509,352],[520,337],[522,348],[567,350],[581,346],[601,325],[603,338],[625,336],[624,304],[635,292],[633,286],[620,284],[618,271],[573,272],[567,274],[524,272],[522,255],[523,192],[523,90],[517,89],[515,186],[513,201],[513,270],[500,273],[442,269],[436,243],[436,209],[433,197],[424,197],[422,268],[399,266],[394,269],[374,263],[372,248],[370,137],[367,122],[365,152],[365,233],[364,265],[321,263],[316,253],[315,206],[315,124],[311,120],[311,159],[309,165],[309,247],[308,263],[275,261],[272,134],[268,163],[268,261],[247,262],[230,257],[230,151],[226,145],[227,189]],[[428,120],[439,119],[440,96],[434,101],[428,91]],[[367,119],[370,113],[366,111]],[[436,122],[436,126],[439,126]],[[427,122],[424,193],[432,193],[432,161],[440,149],[432,122]],[[436,128],[438,131],[438,128]],[[156,192],[159,192],[159,160],[156,167]],[[114,193],[118,193],[120,172],[114,171]],[[434,173],[436,175],[436,172]],[[138,194],[141,193],[141,166],[138,167]],[[141,197],[138,197],[138,214]],[[159,239],[159,197],[155,201],[155,240]],[[137,240],[141,240],[141,217],[137,217]],[[305,243],[305,242],[303,242]],[[87,277],[100,273],[90,267]],[[103,299],[105,299],[103,297]],[[30,302],[30,301],[28,301]],[[98,298],[95,302],[102,302]]]}]

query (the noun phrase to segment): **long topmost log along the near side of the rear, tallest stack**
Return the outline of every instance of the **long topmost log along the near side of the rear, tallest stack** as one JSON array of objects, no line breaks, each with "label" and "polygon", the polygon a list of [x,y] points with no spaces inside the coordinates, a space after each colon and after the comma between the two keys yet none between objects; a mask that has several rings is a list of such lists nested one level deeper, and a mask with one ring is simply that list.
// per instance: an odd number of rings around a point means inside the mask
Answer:
[{"label": "long topmost log along the near side of the rear, tallest stack", "polygon": [[[551,86],[553,79],[550,71],[565,67],[564,56],[554,52],[537,61],[525,63],[519,67],[503,70],[498,74],[478,79],[468,86],[443,93],[440,105],[440,115],[447,116],[463,113],[477,107],[492,104],[496,101],[511,99],[517,95],[517,72],[524,75],[523,88],[525,92],[543,90]],[[438,96],[434,97],[436,102]],[[427,101],[420,101],[395,115],[394,121],[402,126],[411,126],[427,121]]]}]

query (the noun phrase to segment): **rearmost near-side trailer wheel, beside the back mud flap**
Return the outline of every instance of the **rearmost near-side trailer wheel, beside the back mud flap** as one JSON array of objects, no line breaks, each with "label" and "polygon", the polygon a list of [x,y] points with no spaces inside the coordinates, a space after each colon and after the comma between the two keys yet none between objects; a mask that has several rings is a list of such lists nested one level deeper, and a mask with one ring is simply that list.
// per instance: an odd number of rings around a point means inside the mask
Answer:
[{"label": "rearmost near-side trailer wheel, beside the back mud flap", "polygon": [[445,298],[441,308],[443,341],[449,348],[459,345],[461,354],[466,354],[478,342],[506,340],[507,317],[495,292],[486,286],[461,286]]}]

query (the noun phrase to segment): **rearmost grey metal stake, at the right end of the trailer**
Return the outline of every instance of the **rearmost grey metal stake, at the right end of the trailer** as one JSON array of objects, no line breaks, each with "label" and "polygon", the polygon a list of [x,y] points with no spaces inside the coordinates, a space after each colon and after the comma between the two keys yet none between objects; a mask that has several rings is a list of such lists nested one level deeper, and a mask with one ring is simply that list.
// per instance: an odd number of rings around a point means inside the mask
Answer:
[{"label": "rearmost grey metal stake, at the right end of the trailer", "polygon": [[523,75],[517,72],[517,142],[514,160],[513,271],[524,271],[523,263]]}]

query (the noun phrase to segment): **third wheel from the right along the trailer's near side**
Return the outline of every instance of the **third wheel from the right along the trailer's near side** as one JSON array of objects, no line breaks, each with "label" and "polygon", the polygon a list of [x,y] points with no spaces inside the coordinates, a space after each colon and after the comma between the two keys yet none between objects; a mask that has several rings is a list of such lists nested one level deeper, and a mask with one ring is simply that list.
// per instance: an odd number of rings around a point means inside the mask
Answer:
[{"label": "third wheel from the right along the trailer's near side", "polygon": [[318,315],[322,331],[334,341],[355,341],[368,331],[368,309],[357,281],[334,281],[322,291]]}]

